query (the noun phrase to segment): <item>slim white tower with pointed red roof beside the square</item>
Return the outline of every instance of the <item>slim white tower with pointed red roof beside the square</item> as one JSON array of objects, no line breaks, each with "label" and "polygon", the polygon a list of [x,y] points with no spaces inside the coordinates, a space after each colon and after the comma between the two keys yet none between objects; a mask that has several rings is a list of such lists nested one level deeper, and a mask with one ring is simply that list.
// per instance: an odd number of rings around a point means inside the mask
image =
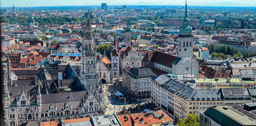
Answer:
[{"label": "slim white tower with pointed red roof beside the square", "polygon": [[113,51],[111,54],[111,66],[112,68],[110,80],[113,80],[113,78],[119,79],[119,53],[117,51],[116,37],[114,38]]}]

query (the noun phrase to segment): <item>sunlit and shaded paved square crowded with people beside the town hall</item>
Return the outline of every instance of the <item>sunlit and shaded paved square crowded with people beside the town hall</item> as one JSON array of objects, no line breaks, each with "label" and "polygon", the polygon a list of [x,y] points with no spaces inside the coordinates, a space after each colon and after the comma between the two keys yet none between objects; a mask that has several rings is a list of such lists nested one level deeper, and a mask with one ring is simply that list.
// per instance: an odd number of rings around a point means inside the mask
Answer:
[{"label": "sunlit and shaded paved square crowded with people beside the town hall", "polygon": [[[123,94],[123,97],[126,99],[125,101],[125,108],[130,113],[137,113],[143,111],[143,109],[154,109],[150,101],[141,102],[133,100],[129,92],[125,90],[125,88],[122,86],[121,82],[118,84],[113,82],[111,84],[103,84],[103,92],[104,92],[104,105],[105,108],[105,114],[120,114],[120,111],[124,108],[124,100],[116,99],[114,96],[114,93],[117,91],[120,91]],[[137,107],[138,105],[141,105],[141,107]]]}]

